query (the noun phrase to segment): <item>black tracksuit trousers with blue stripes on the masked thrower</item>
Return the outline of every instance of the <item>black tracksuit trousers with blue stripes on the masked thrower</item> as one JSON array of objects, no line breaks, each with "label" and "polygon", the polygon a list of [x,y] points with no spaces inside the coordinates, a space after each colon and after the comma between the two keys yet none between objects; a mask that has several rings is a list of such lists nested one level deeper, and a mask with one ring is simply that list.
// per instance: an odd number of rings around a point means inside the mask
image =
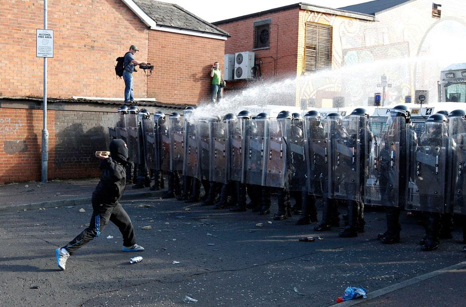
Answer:
[{"label": "black tracksuit trousers with blue stripes on the masked thrower", "polygon": [[64,249],[72,255],[80,247],[89,241],[97,239],[104,230],[105,226],[111,221],[121,232],[123,237],[123,246],[133,246],[136,244],[134,228],[128,214],[120,204],[108,205],[92,202],[92,217],[89,227],[84,229],[76,238],[63,246]]}]

